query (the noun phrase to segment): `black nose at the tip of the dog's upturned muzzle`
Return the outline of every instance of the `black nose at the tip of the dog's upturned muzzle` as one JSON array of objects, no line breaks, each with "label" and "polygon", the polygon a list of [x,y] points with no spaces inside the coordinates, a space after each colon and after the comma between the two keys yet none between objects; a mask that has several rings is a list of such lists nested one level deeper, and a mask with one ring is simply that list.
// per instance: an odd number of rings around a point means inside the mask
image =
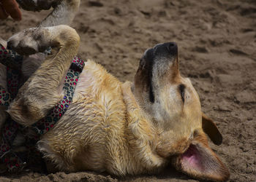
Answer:
[{"label": "black nose at the tip of the dog's upturned muzzle", "polygon": [[157,55],[178,55],[178,46],[175,42],[167,42],[164,44],[158,44],[154,47],[154,51]]}]

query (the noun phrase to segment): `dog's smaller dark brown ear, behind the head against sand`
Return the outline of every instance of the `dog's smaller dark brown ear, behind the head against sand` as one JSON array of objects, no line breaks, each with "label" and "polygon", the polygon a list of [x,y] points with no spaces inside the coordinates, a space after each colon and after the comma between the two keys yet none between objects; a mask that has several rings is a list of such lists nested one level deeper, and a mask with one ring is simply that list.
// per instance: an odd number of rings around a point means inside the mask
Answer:
[{"label": "dog's smaller dark brown ear, behind the head against sand", "polygon": [[211,138],[211,141],[215,145],[219,146],[220,144],[222,144],[222,134],[219,132],[214,121],[208,118],[206,114],[203,114],[203,112],[202,112],[202,127],[203,127],[203,131],[206,132],[208,137]]}]

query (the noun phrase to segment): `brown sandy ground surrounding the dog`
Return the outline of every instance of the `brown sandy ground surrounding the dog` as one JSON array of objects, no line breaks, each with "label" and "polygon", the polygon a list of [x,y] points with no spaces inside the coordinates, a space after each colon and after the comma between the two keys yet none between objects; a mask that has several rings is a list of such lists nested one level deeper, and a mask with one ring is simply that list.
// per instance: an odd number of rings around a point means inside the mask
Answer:
[{"label": "brown sandy ground surrounding the dog", "polygon": [[[0,21],[0,36],[37,25],[47,11],[23,12],[20,23]],[[101,63],[121,81],[132,81],[143,52],[176,41],[181,73],[217,123],[221,146],[211,147],[230,169],[230,181],[256,181],[256,1],[108,0],[81,2],[72,23],[81,58]],[[0,181],[194,181],[168,167],[154,176],[23,173]]]}]

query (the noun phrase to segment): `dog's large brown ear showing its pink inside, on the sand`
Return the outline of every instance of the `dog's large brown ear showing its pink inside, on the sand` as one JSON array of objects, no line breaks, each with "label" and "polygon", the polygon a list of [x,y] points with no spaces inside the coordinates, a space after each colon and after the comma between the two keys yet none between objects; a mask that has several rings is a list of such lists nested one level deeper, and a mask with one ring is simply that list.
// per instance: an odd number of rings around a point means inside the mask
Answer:
[{"label": "dog's large brown ear showing its pink inside, on the sand", "polygon": [[173,165],[194,178],[227,181],[230,177],[227,167],[211,150],[207,144],[206,135],[203,135],[197,136],[184,154],[173,159]]}]

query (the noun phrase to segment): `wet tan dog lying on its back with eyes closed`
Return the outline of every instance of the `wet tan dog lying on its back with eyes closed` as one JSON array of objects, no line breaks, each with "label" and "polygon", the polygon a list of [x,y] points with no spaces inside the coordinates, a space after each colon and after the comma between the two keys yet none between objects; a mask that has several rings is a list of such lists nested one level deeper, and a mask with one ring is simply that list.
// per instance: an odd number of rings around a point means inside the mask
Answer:
[{"label": "wet tan dog lying on its back with eyes closed", "polygon": [[[67,25],[29,28],[10,38],[8,45],[23,55],[47,47],[53,52],[12,101],[7,111],[12,119],[31,126],[59,102],[79,41]],[[226,181],[230,174],[206,134],[222,143],[195,88],[180,75],[177,44],[168,42],[146,50],[134,82],[119,82],[88,60],[67,112],[42,135],[37,149],[67,172],[155,174],[171,163],[193,178]]]}]

